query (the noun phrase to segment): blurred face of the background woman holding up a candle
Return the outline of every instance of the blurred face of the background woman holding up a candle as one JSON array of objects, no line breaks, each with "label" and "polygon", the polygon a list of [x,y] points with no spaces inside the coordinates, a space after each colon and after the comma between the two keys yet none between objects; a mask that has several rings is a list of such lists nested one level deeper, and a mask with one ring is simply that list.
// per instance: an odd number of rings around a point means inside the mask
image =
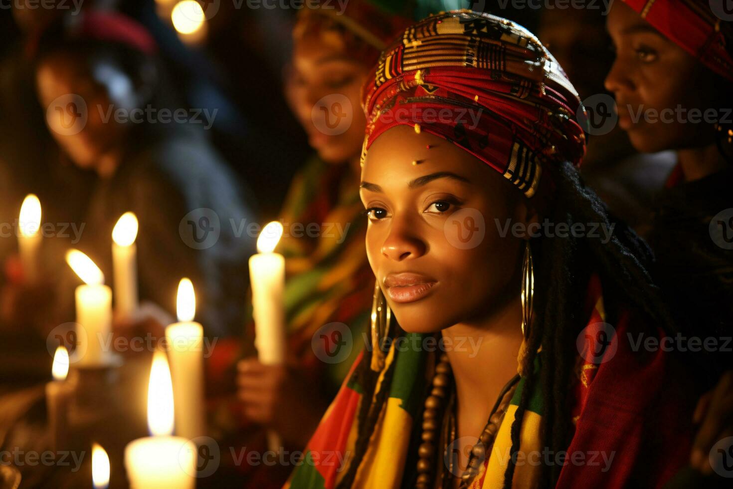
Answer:
[{"label": "blurred face of the background woman holding up a candle", "polygon": [[359,95],[369,67],[349,56],[338,34],[325,32],[295,41],[291,70],[287,98],[309,144],[329,163],[358,158],[367,125]]}]

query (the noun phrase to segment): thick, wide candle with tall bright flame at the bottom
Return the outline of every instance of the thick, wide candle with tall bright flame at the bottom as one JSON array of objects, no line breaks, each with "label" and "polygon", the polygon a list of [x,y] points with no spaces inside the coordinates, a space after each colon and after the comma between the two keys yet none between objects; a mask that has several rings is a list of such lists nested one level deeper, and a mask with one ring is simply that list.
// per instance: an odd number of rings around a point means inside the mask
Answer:
[{"label": "thick, wide candle with tall bright flame at the bottom", "polygon": [[131,489],[192,489],[196,475],[196,446],[172,436],[173,383],[166,354],[152,357],[147,391],[147,424],[152,436],[125,446],[125,468]]}]

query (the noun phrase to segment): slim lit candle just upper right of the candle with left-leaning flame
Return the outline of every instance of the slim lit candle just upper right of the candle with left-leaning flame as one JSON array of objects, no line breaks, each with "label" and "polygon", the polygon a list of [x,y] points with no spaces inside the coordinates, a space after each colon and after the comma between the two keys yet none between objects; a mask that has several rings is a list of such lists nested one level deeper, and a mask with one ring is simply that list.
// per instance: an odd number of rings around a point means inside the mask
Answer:
[{"label": "slim lit candle just upper right of the candle with left-leaning flame", "polygon": [[137,232],[138,221],[131,212],[122,214],[112,229],[114,310],[124,316],[132,315],[138,307]]}]

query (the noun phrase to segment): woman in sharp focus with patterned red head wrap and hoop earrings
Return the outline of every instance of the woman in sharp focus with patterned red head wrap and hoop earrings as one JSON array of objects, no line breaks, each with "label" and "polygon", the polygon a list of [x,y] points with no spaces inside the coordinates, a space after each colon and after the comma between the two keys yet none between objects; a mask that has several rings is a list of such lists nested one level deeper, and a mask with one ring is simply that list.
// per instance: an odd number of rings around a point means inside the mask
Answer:
[{"label": "woman in sharp focus with patterned red head wrap and hoop earrings", "polygon": [[290,487],[662,485],[688,455],[688,377],[629,340],[671,320],[644,246],[579,183],[553,56],[447,12],[383,51],[362,100],[372,341]]}]

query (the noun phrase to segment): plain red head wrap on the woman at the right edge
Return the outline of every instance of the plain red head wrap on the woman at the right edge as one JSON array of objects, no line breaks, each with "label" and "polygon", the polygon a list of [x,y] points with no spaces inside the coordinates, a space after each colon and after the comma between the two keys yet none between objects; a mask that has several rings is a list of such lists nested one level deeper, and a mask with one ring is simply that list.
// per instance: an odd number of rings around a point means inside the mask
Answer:
[{"label": "plain red head wrap on the woman at the right edge", "polygon": [[[718,75],[733,81],[733,24],[708,0],[622,0],[645,21]],[[719,2],[722,5],[725,2]],[[724,15],[724,12],[717,12]]]}]

